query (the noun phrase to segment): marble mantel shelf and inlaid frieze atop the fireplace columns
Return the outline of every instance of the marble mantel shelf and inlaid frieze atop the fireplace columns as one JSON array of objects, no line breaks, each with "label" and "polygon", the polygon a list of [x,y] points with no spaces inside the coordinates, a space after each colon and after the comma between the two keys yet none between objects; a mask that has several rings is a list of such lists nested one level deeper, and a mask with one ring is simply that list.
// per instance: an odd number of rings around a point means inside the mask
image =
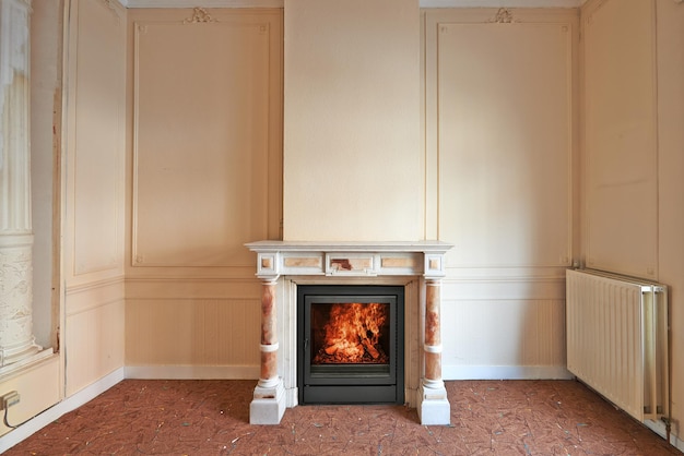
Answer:
[{"label": "marble mantel shelf and inlaid frieze atop the fireplace columns", "polygon": [[445,275],[444,255],[453,245],[441,241],[258,241],[257,276]]}]

